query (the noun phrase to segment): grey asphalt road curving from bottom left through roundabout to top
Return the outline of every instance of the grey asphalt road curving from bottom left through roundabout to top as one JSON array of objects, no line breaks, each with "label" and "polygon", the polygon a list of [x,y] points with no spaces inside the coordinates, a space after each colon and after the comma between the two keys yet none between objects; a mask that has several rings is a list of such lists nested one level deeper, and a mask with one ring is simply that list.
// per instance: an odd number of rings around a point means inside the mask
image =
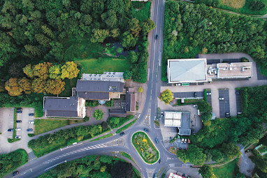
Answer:
[{"label": "grey asphalt road curving from bottom left through roundabout to top", "polygon": [[[141,173],[142,177],[152,177],[154,173],[159,172],[161,168],[168,168],[174,166],[181,166],[182,162],[177,156],[171,154],[164,147],[163,138],[160,129],[154,127],[154,118],[157,116],[157,97],[160,93],[161,86],[161,57],[163,49],[163,27],[164,27],[164,0],[154,0],[151,6],[152,17],[151,19],[156,24],[156,28],[150,33],[150,60],[148,69],[148,80],[147,80],[147,95],[145,99],[145,106],[143,112],[140,114],[138,121],[125,131],[124,136],[119,134],[113,137],[98,140],[95,142],[79,142],[76,145],[65,147],[63,149],[53,151],[50,154],[46,154],[40,158],[35,158],[29,161],[29,163],[22,165],[19,170],[20,174],[16,177],[31,178],[42,175],[44,172],[51,168],[71,161],[77,158],[81,158],[90,154],[109,154],[115,151],[124,151],[130,154],[137,165],[134,165]],[[158,39],[155,40],[155,36],[158,34]],[[147,112],[150,112],[150,124],[143,124]],[[158,138],[159,143],[155,143],[157,149],[160,152],[161,164],[154,163],[153,165],[147,164],[140,158],[140,155],[131,144],[131,135],[136,131],[143,131],[143,128],[150,130],[147,133],[152,142],[154,138]],[[117,144],[120,141],[120,144]],[[7,175],[6,177],[12,177]]]}]

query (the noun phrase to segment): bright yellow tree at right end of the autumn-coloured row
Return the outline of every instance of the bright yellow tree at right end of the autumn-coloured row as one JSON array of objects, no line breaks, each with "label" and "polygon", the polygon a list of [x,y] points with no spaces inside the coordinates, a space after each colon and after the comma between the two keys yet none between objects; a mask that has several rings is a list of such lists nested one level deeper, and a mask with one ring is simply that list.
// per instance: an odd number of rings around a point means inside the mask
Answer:
[{"label": "bright yellow tree at right end of the autumn-coloured row", "polygon": [[71,80],[74,77],[77,77],[79,71],[77,64],[73,61],[68,61],[62,66],[62,79],[64,80],[65,78],[68,78]]}]

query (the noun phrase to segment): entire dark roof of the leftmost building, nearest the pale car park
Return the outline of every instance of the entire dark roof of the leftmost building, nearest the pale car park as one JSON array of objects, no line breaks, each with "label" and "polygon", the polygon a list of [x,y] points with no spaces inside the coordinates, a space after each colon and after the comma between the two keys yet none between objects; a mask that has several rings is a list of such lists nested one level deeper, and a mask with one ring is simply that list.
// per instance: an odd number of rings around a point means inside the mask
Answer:
[{"label": "entire dark roof of the leftmost building, nearest the pale car park", "polygon": [[45,98],[46,117],[78,117],[78,97]]}]

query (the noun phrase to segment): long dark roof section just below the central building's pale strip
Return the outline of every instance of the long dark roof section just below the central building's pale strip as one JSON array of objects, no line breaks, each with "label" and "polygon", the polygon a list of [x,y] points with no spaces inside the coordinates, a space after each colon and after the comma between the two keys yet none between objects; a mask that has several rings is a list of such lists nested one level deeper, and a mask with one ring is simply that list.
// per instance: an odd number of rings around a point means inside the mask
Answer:
[{"label": "long dark roof section just below the central building's pale strip", "polygon": [[91,92],[122,92],[124,82],[99,81],[99,80],[78,80],[76,91]]}]

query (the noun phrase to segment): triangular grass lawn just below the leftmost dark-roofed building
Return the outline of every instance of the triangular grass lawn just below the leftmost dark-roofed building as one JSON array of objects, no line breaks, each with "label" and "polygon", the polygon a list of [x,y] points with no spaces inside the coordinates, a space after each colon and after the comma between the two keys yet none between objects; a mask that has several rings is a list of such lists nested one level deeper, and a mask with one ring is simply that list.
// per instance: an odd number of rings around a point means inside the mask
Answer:
[{"label": "triangular grass lawn just below the leftmost dark-roofed building", "polygon": [[35,119],[34,134],[38,135],[63,126],[80,123],[83,120],[62,120],[62,119]]}]

